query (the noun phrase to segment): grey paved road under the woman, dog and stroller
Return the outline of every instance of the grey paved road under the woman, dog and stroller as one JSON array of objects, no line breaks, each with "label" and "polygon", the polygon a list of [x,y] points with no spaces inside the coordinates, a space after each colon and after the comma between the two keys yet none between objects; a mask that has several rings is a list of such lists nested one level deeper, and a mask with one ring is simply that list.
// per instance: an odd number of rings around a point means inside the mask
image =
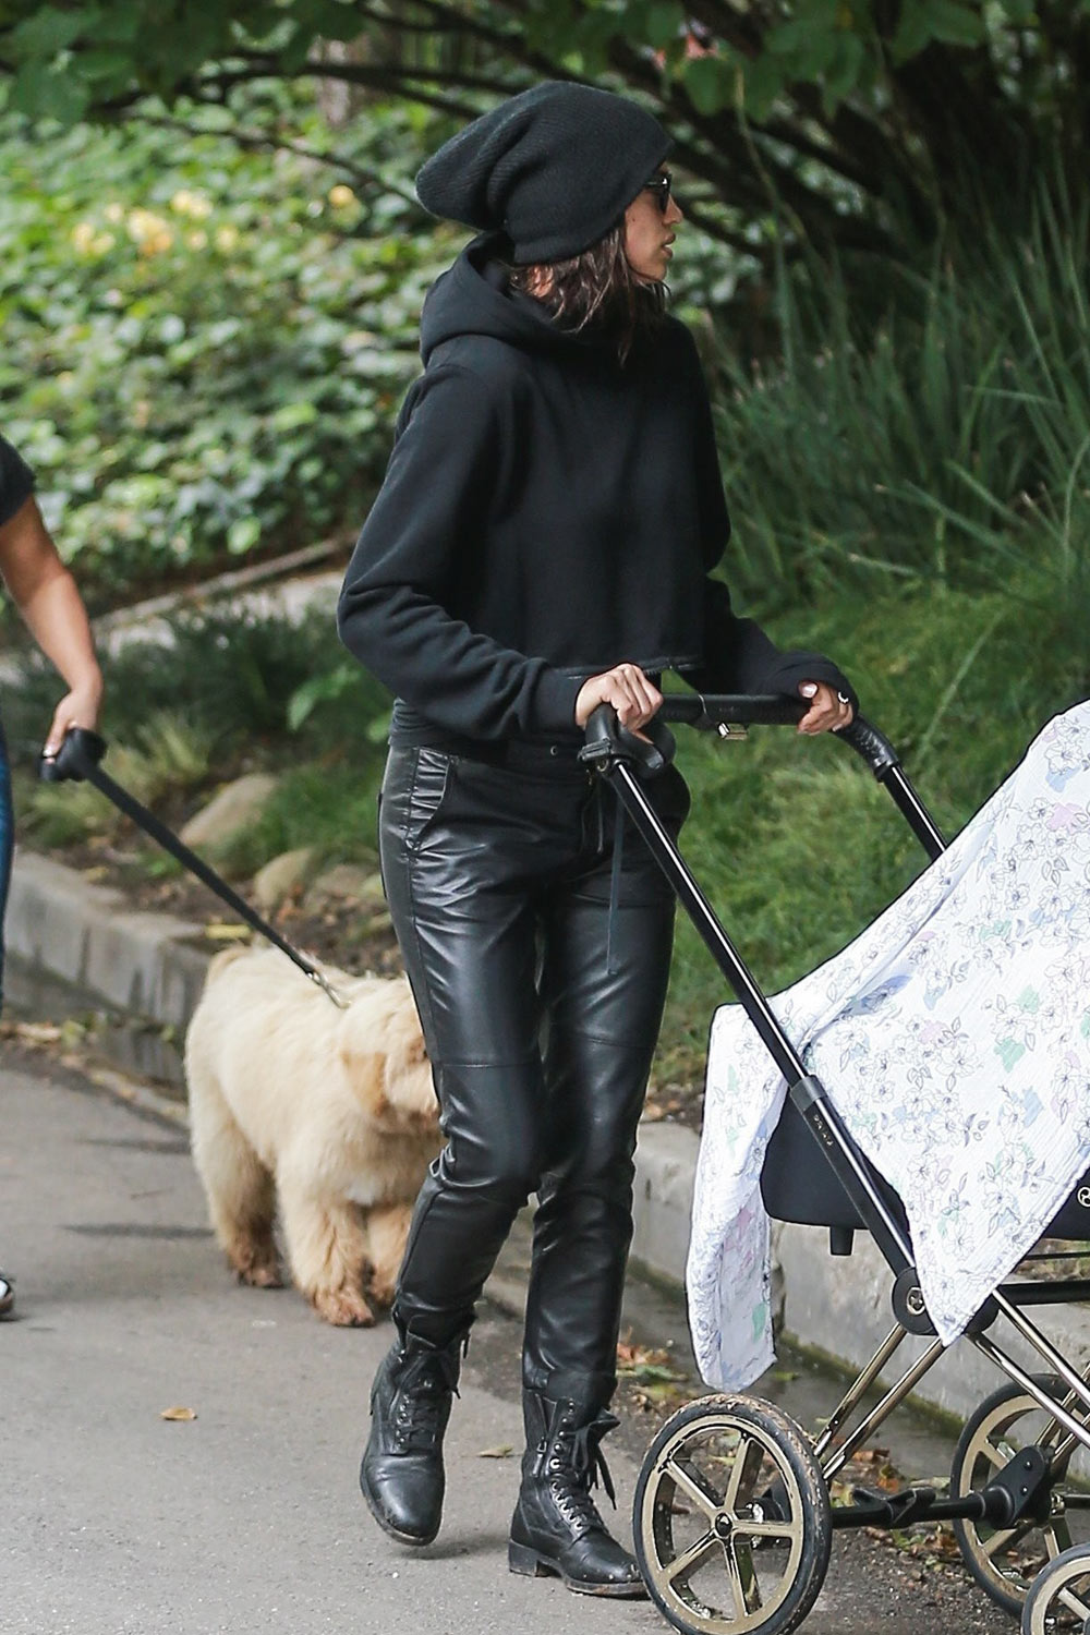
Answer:
[{"label": "grey paved road under the woman, dog and stroller", "polygon": [[[449,1434],[448,1514],[391,1545],[356,1491],[366,1391],[389,1328],[335,1331],[291,1290],[232,1283],[185,1133],[69,1071],[0,1068],[3,1635],[650,1635],[649,1604],[508,1575],[518,1326],[474,1331]],[[160,1418],[191,1408],[191,1422]],[[621,1516],[646,1431],[611,1467]],[[984,1597],[842,1539],[807,1635],[997,1635]]]}]

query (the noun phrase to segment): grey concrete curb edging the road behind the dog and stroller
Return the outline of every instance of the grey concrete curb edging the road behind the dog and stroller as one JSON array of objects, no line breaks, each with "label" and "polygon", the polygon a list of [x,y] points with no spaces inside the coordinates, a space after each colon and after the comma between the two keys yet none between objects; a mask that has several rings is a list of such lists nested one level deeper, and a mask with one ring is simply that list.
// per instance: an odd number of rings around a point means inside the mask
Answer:
[{"label": "grey concrete curb edging the road behind the dog and stroller", "polygon": [[[8,955],[31,984],[64,984],[83,1001],[123,1019],[181,1037],[204,983],[212,952],[193,945],[203,927],[165,914],[132,911],[123,893],[90,885],[75,870],[26,850],[16,852],[8,896]],[[118,1076],[114,1076],[118,1077]],[[123,1092],[134,1099],[136,1092]],[[144,1094],[144,1092],[141,1092]],[[165,1117],[183,1120],[178,1094],[159,1095]],[[150,1105],[150,1104],[149,1104]],[[642,1123],[636,1146],[632,1269],[650,1283],[683,1295],[698,1136],[681,1125]],[[487,1293],[508,1310],[525,1303],[528,1233],[520,1228]],[[793,1346],[856,1373],[892,1328],[892,1280],[864,1233],[850,1259],[829,1254],[824,1231],[773,1228],[780,1328]],[[1038,1316],[1041,1329],[1080,1372],[1090,1365],[1090,1310],[1054,1306]],[[1000,1344],[1023,1367],[1041,1362],[1008,1328]],[[897,1354],[909,1367],[925,1342],[909,1339]],[[914,1400],[966,1418],[1000,1378],[974,1346],[964,1342],[925,1375]]]}]

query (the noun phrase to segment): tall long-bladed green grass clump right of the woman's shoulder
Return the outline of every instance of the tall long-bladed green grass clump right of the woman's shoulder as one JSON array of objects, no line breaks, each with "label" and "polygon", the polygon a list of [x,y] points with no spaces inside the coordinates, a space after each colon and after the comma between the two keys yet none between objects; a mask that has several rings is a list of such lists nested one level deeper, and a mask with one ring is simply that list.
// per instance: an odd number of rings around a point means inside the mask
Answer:
[{"label": "tall long-bladed green grass clump right of the woman's shoulder", "polygon": [[732,582],[768,608],[1013,576],[1090,611],[1088,265],[1087,203],[1041,195],[1030,237],[997,222],[956,270],[886,275],[868,312],[827,268],[781,278],[776,361],[716,353]]}]

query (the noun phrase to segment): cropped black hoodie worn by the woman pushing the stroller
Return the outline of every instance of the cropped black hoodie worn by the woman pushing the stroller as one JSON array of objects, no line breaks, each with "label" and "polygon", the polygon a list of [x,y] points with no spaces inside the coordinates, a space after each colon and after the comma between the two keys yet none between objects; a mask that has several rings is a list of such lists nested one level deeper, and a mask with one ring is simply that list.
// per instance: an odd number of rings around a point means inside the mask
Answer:
[{"label": "cropped black hoodie worn by the woman pushing the stroller", "polygon": [[345,646],[397,695],[394,739],[575,734],[583,680],[623,661],[704,692],[847,688],[708,577],[730,523],[686,327],[621,365],[507,288],[502,242],[476,239],[425,301],[425,373],[340,595]]}]

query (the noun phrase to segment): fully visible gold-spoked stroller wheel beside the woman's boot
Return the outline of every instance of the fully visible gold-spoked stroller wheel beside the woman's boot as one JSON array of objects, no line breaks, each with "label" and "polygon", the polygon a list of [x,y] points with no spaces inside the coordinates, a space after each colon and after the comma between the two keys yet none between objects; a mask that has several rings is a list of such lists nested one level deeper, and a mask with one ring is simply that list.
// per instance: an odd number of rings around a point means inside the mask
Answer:
[{"label": "fully visible gold-spoked stroller wheel beside the woman's boot", "polygon": [[829,1489],[778,1408],[704,1396],[647,1450],[632,1534],[647,1589],[683,1635],[786,1635],[825,1581]]}]

